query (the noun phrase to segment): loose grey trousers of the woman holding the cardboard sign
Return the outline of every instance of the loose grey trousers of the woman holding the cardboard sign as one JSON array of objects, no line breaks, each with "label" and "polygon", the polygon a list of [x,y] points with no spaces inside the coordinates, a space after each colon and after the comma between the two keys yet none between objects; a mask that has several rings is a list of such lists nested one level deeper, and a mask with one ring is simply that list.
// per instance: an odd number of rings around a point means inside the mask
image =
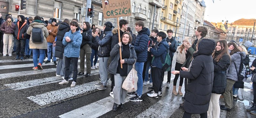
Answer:
[{"label": "loose grey trousers of the woman holding the cardboard sign", "polygon": [[126,76],[120,76],[120,74],[115,75],[115,86],[113,88],[114,94],[114,103],[120,105],[120,103],[124,104],[124,99],[126,96],[126,90],[122,88],[124,79]]}]

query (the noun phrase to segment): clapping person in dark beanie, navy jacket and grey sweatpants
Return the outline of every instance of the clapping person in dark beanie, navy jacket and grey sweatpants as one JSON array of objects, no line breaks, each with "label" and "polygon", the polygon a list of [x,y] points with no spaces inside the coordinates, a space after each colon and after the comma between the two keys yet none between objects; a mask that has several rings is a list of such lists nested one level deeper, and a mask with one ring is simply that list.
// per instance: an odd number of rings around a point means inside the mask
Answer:
[{"label": "clapping person in dark beanie, navy jacket and grey sweatpants", "polygon": [[108,59],[111,51],[111,39],[112,39],[112,23],[106,22],[104,23],[104,37],[100,39],[98,34],[92,33],[92,36],[100,45],[98,56],[100,57],[99,63],[99,71],[100,71],[100,83],[95,84],[95,86],[100,86],[98,90],[106,90],[107,89],[107,81],[108,81]]}]

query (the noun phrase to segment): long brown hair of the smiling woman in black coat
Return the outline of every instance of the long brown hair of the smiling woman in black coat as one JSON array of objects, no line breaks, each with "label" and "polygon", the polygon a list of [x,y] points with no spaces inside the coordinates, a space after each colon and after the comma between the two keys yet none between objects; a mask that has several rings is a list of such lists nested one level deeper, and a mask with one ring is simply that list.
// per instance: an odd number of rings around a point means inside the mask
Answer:
[{"label": "long brown hair of the smiling woman in black coat", "polygon": [[[214,52],[212,53],[212,58],[214,59],[214,61],[216,62],[219,62],[221,60],[221,57],[224,55],[224,54],[227,54],[229,55],[228,53],[228,44],[227,44],[227,41],[225,40],[220,40],[220,41],[217,41],[216,42],[216,46],[217,46],[217,43],[220,43],[220,46],[221,46],[221,50],[219,52],[217,52],[216,48],[214,50]],[[219,55],[217,55],[219,53]],[[230,55],[229,55],[230,56]]]}]

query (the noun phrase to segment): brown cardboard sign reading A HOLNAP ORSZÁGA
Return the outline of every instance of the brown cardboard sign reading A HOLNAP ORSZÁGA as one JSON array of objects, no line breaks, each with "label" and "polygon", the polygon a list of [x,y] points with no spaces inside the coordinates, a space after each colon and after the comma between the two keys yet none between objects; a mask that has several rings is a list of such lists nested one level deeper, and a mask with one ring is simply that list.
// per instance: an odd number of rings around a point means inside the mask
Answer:
[{"label": "brown cardboard sign reading A HOLNAP ORSZ\u00c1GA", "polygon": [[131,15],[130,0],[102,0],[104,18],[117,18]]}]

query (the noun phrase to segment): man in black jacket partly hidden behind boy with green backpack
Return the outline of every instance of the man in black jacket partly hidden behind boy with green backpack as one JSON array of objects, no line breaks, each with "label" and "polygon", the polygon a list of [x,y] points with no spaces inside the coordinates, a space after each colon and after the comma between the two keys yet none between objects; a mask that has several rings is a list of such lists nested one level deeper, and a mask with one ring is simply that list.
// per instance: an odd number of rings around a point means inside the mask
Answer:
[{"label": "man in black jacket partly hidden behind boy with green backpack", "polygon": [[[153,29],[151,31],[151,36],[149,37],[149,41],[148,41],[148,47],[154,48],[154,46],[158,43],[156,38],[157,33],[158,33],[157,29]],[[151,66],[151,61],[152,61],[152,56],[151,56],[151,53],[148,52],[148,60],[144,63],[143,72],[142,72],[143,85],[147,85],[147,84],[152,85],[152,77],[150,77],[150,80],[148,81],[148,70],[149,70],[149,67]]]}]

